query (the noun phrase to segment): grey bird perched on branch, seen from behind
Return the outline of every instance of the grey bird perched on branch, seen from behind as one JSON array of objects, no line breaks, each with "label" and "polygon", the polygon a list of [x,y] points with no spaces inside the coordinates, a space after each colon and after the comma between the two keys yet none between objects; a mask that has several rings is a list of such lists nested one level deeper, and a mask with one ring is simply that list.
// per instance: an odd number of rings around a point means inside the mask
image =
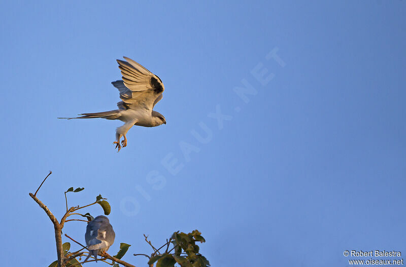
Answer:
[{"label": "grey bird perched on branch, seen from behind", "polygon": [[100,215],[88,222],[85,240],[89,255],[85,261],[90,256],[93,256],[97,261],[98,252],[105,253],[113,245],[115,237],[116,233],[114,233],[113,227],[106,216]]}]

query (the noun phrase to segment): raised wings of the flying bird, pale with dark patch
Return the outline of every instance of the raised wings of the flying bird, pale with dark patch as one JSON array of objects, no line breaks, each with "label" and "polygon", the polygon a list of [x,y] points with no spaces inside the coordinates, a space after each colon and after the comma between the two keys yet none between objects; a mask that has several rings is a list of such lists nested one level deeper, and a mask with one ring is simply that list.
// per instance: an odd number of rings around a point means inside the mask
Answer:
[{"label": "raised wings of the flying bird, pale with dark patch", "polygon": [[124,57],[127,61],[117,60],[123,75],[119,81],[112,82],[120,91],[120,109],[146,108],[152,111],[155,104],[162,99],[164,90],[161,79],[136,61]]}]

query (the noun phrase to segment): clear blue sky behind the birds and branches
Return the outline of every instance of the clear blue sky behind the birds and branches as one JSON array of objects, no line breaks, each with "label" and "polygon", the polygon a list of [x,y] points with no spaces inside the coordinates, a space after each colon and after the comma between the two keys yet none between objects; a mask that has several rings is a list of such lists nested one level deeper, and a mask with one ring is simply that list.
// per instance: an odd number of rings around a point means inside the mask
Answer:
[{"label": "clear blue sky behind the birds and branches", "polygon": [[[144,233],[158,245],[195,228],[212,266],[343,266],[344,250],[406,253],[405,9],[3,1],[6,261],[56,258],[53,226],[28,196],[49,170],[38,197],[58,218],[71,186],[85,190],[70,206],[108,198],[109,252],[129,243],[124,259],[137,266],[145,258],[131,255],[150,252]],[[133,127],[117,153],[121,122],[56,118],[115,109],[122,56],[163,81],[155,109],[167,124]],[[239,96],[247,83],[251,94]],[[64,228],[82,242],[84,232],[84,222]]]}]

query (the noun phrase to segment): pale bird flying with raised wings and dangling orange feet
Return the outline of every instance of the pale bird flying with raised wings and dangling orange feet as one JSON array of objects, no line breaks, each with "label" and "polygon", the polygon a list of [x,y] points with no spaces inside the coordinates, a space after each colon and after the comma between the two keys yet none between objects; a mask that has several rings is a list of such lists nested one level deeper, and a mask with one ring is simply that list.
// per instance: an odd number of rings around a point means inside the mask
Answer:
[{"label": "pale bird flying with raised wings and dangling orange feet", "polygon": [[[153,110],[155,104],[162,99],[162,92],[165,90],[161,79],[136,61],[127,57],[124,59],[126,61],[117,59],[123,80],[112,82],[120,92],[121,101],[117,103],[118,109],[82,113],[79,114],[82,117],[76,118],[58,118],[69,120],[103,118],[124,122],[123,126],[116,129],[116,140],[113,142],[118,151],[121,147],[127,146],[125,135],[132,126],[155,127],[166,124],[165,117]],[[124,139],[120,145],[121,137]]]}]

